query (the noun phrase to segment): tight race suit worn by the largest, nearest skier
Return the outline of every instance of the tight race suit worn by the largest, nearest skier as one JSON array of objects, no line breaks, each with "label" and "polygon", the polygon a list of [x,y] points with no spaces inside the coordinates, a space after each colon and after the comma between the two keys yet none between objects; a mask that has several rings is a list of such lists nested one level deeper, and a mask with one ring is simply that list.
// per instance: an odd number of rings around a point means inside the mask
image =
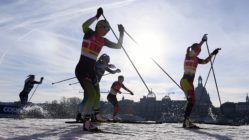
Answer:
[{"label": "tight race suit worn by the largest, nearest skier", "polygon": [[84,114],[91,114],[95,101],[99,100],[100,91],[95,73],[95,63],[102,47],[120,48],[118,43],[113,43],[99,36],[96,31],[89,28],[95,20],[97,18],[92,17],[82,25],[85,35],[83,37],[80,60],[75,68],[76,78],[84,90],[84,99],[79,107],[79,112],[84,112]]}]

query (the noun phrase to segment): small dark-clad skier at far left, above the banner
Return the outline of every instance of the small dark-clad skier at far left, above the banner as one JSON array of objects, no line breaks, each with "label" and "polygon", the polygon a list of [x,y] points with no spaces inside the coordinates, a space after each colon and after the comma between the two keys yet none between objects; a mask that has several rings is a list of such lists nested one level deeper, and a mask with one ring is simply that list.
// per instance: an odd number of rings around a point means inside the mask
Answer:
[{"label": "small dark-clad skier at far left, above the banner", "polygon": [[42,81],[43,81],[43,77],[41,77],[40,82],[38,82],[38,81],[35,81],[35,75],[28,75],[28,77],[24,83],[24,88],[21,91],[21,93],[19,94],[20,101],[21,101],[22,105],[27,104],[29,93],[32,90],[32,88],[34,87],[34,84],[41,84]]}]

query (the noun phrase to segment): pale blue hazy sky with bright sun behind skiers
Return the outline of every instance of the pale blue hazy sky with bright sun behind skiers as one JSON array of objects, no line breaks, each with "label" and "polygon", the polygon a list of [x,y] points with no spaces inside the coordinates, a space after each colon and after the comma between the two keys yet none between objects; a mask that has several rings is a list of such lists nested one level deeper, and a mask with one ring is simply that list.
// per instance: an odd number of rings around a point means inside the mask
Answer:
[{"label": "pale blue hazy sky with bright sun behind skiers", "polygon": [[[172,99],[183,100],[184,94],[149,57],[179,83],[186,48],[208,33],[210,50],[222,48],[214,63],[221,102],[244,102],[249,92],[248,5],[247,0],[2,0],[0,101],[19,100],[28,74],[35,74],[37,80],[44,77],[32,102],[60,100],[63,96],[82,98],[79,85],[68,85],[76,79],[51,83],[74,77],[84,35],[81,25],[96,14],[98,7],[103,7],[116,33],[117,24],[123,24],[140,44],[136,46],[128,36],[124,37],[123,46],[158,100],[169,92],[175,93],[170,95]],[[112,32],[106,37],[116,42]],[[102,53],[110,55],[111,63],[125,76],[125,86],[135,93],[135,96],[124,94],[126,99],[139,101],[148,94],[122,50],[104,47]],[[203,45],[200,58],[207,55]],[[206,79],[209,68],[210,64],[199,65],[195,85],[199,75]],[[117,76],[103,77],[101,90],[109,90]],[[213,104],[219,106],[212,75],[206,88]],[[106,94],[101,99],[106,100]]]}]

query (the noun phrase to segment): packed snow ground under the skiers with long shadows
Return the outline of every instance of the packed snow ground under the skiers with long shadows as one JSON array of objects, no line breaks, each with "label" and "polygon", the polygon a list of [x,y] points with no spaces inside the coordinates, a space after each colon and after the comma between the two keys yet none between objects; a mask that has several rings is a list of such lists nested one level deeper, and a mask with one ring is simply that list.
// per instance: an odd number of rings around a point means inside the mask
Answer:
[{"label": "packed snow ground under the skiers with long shadows", "polygon": [[249,126],[198,124],[203,129],[181,128],[180,123],[101,123],[101,133],[82,131],[82,124],[66,124],[73,119],[0,119],[0,139],[10,140],[248,140]]}]

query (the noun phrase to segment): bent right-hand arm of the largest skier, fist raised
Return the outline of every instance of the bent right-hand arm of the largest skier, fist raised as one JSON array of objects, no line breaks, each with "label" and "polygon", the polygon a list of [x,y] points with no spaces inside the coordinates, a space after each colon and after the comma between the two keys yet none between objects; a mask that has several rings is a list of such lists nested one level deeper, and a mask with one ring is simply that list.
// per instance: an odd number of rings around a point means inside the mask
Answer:
[{"label": "bent right-hand arm of the largest skier, fist raised", "polygon": [[109,48],[113,48],[113,49],[120,49],[122,47],[123,44],[123,38],[124,38],[124,27],[123,25],[118,25],[118,30],[119,30],[119,39],[118,39],[118,43],[114,43],[109,41],[108,39],[105,39],[106,42],[106,46]]}]

